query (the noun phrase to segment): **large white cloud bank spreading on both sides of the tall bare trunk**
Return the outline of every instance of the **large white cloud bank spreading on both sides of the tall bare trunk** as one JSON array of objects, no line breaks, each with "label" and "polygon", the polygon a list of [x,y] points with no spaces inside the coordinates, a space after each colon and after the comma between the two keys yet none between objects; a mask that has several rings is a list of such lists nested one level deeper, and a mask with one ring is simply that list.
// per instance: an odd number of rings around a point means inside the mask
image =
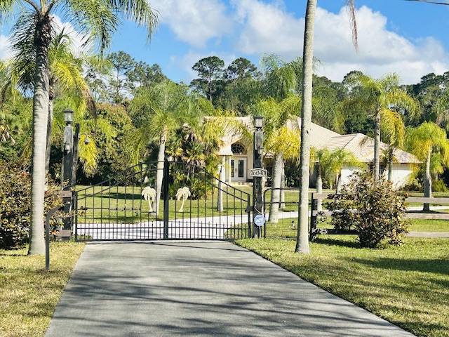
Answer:
[{"label": "large white cloud bank spreading on both sides of the tall bare trunk", "polygon": [[[234,27],[239,31],[235,53],[275,53],[286,60],[302,56],[304,18],[288,13],[282,1],[231,0]],[[351,37],[347,8],[339,13],[316,9],[314,55],[323,62],[319,74],[342,81],[345,74],[361,70],[372,77],[398,73],[403,83],[420,81],[424,74],[449,69],[449,55],[439,41],[424,37],[412,41],[387,29],[382,13],[362,6],[356,14],[358,47]],[[235,29],[237,30],[237,29]]]}]

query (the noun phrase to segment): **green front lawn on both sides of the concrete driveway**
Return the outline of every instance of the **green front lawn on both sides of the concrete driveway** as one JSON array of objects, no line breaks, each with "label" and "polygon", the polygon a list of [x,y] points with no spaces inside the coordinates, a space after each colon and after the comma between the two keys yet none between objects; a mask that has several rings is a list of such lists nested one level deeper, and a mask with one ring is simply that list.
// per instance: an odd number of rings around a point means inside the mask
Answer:
[{"label": "green front lawn on both sides of the concrete driveway", "polygon": [[[449,239],[358,249],[354,237],[321,235],[306,256],[294,253],[296,225],[297,218],[268,223],[267,239],[236,244],[417,336],[449,336]],[[449,232],[449,221],[412,220],[411,230]],[[45,257],[27,256],[26,248],[0,250],[1,337],[43,336],[83,246],[52,243],[50,272]]]}]

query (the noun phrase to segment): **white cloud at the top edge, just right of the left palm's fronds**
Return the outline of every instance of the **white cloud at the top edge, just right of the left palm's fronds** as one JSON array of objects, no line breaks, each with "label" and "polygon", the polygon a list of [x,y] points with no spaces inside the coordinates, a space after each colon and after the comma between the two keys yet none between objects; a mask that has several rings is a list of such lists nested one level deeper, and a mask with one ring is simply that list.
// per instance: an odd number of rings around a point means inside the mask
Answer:
[{"label": "white cloud at the top edge, just right of the left palm's fronds", "polygon": [[161,0],[154,9],[159,12],[161,23],[169,25],[177,39],[196,48],[232,32],[232,19],[219,0]]}]

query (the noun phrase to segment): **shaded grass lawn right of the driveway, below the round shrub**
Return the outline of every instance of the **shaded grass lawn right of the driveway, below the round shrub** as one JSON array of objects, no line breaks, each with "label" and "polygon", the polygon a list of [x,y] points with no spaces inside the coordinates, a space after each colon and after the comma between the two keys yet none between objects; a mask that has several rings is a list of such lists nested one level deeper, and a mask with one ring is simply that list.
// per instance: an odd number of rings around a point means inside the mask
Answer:
[{"label": "shaded grass lawn right of the driveway, below the round shrub", "polygon": [[406,238],[400,247],[358,249],[352,236],[320,235],[303,255],[288,239],[295,234],[285,222],[269,225],[267,239],[236,244],[416,336],[449,336],[449,239]]}]

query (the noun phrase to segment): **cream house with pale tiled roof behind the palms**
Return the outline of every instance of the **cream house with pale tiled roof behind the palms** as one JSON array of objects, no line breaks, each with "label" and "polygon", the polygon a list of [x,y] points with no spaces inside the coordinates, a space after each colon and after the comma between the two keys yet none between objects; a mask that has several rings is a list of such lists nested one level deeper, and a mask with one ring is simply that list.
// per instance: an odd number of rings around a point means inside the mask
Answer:
[{"label": "cream house with pale tiled roof behind the palms", "polygon": [[[236,117],[249,133],[253,133],[253,117]],[[290,124],[290,125],[293,125]],[[300,122],[299,122],[300,125]],[[293,127],[293,126],[292,126]],[[243,132],[229,132],[222,138],[223,145],[219,154],[222,156],[222,180],[229,183],[246,183],[250,180],[249,171],[253,169],[253,140],[244,135]],[[340,135],[317,124],[311,124],[311,147],[316,150],[327,148],[330,151],[344,149],[352,152],[354,156],[366,163],[366,168],[371,169],[374,161],[374,140],[362,133],[351,135]],[[387,150],[387,144],[381,144],[382,150]],[[271,157],[267,155],[266,157]],[[403,150],[394,151],[395,161],[393,164],[392,180],[397,185],[407,183],[408,176],[413,172],[413,164],[420,161],[413,154]],[[349,176],[354,171],[360,171],[358,167],[343,167],[342,183],[347,183]],[[388,176],[388,167],[381,167],[381,171]],[[311,175],[312,183],[316,180],[316,174]]]}]

